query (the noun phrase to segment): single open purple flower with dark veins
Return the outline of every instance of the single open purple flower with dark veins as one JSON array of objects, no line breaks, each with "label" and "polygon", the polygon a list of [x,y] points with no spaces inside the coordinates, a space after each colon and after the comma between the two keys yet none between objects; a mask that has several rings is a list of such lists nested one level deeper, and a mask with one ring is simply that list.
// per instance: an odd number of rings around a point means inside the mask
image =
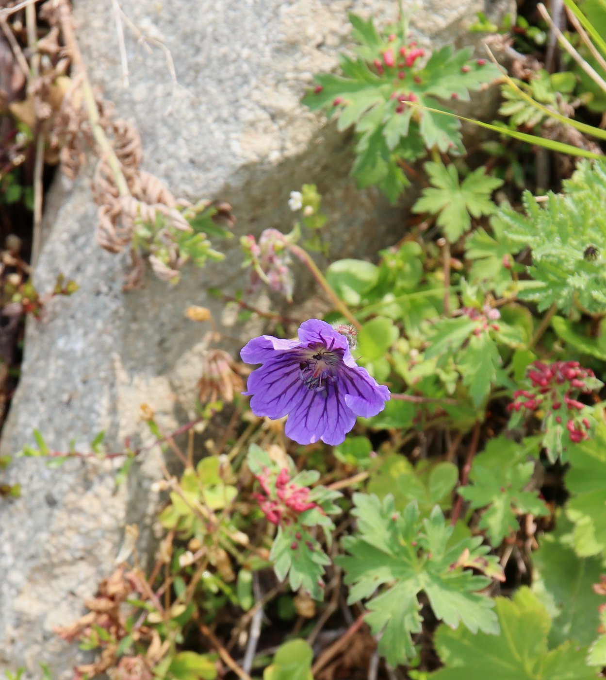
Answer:
[{"label": "single open purple flower with dark veins", "polygon": [[253,395],[255,415],[288,415],[285,432],[296,442],[340,444],[357,415],[370,418],[385,408],[389,390],[356,364],[347,338],[330,324],[310,319],[298,334],[298,340],[262,335],[243,348],[243,361],[263,364],[243,394]]}]

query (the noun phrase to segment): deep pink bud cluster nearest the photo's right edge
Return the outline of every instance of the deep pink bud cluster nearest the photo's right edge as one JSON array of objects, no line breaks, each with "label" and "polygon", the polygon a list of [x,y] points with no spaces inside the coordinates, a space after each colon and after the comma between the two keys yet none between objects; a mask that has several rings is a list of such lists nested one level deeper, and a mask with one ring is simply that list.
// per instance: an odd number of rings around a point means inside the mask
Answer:
[{"label": "deep pink bud cluster nearest the photo's right edge", "polygon": [[535,361],[527,372],[531,381],[529,390],[516,390],[514,401],[507,407],[510,411],[554,411],[556,423],[566,420],[566,428],[573,443],[589,439],[588,418],[578,418],[579,412],[586,406],[577,401],[571,394],[575,391],[585,394],[592,392],[587,380],[594,378],[591,369],[584,369],[578,361],[555,361],[544,364]]}]

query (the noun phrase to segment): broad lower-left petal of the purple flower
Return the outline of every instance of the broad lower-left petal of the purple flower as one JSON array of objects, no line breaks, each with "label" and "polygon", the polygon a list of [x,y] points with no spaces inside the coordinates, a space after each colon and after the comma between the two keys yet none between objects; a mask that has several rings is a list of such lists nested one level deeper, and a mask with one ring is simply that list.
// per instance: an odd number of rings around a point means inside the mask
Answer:
[{"label": "broad lower-left petal of the purple flower", "polygon": [[278,356],[249,375],[247,391],[252,394],[251,410],[277,420],[291,412],[309,390],[299,377],[300,357],[296,354]]}]

